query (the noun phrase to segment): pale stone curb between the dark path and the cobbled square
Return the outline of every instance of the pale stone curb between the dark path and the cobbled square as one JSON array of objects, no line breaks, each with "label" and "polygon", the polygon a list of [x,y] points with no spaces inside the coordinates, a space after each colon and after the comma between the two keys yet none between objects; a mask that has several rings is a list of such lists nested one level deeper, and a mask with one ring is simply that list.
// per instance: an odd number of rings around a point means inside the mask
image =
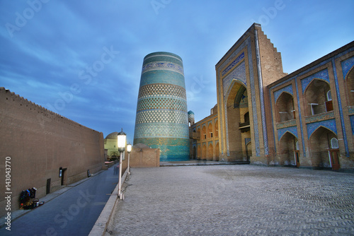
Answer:
[{"label": "pale stone curb between the dark path and the cobbled square", "polygon": [[[122,176],[122,186],[125,182],[125,179],[127,178],[127,170],[125,170],[123,176]],[[108,228],[108,223],[110,222],[110,218],[112,216],[113,210],[115,206],[118,204],[119,198],[118,198],[118,184],[115,187],[115,189],[112,192],[112,195],[110,195],[110,198],[108,199],[107,203],[105,203],[105,207],[103,208],[100,216],[96,220],[95,225],[93,225],[93,228],[91,229],[91,232],[89,233],[89,236],[103,236],[105,235],[105,231]],[[124,197],[124,195],[123,195]]]}]

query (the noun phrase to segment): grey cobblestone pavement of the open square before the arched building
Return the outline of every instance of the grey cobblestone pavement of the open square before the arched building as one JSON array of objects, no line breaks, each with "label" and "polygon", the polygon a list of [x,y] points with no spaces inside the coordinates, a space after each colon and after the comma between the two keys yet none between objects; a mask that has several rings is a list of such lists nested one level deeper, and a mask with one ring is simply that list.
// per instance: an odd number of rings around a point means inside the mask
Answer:
[{"label": "grey cobblestone pavement of the open square before the arched building", "polygon": [[354,235],[354,175],[253,165],[132,169],[106,235]]}]

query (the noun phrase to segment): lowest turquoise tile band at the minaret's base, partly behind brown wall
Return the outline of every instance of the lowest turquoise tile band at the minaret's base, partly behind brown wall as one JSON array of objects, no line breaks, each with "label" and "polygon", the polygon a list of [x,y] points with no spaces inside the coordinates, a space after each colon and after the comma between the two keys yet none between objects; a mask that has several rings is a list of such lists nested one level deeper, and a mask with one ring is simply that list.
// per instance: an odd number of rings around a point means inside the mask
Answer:
[{"label": "lowest turquoise tile band at the minaret's base, partly behind brown wall", "polygon": [[135,138],[134,143],[160,148],[160,161],[189,160],[189,138]]}]

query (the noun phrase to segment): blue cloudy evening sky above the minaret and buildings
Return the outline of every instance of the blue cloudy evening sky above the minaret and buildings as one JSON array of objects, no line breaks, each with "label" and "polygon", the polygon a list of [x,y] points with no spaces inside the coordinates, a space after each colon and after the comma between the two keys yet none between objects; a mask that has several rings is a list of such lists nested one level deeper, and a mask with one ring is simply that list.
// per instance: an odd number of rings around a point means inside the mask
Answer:
[{"label": "blue cloudy evening sky above the minaret and buildings", "polygon": [[144,56],[183,59],[195,120],[217,103],[215,64],[260,23],[291,73],[354,40],[353,0],[0,0],[0,86],[132,143]]}]

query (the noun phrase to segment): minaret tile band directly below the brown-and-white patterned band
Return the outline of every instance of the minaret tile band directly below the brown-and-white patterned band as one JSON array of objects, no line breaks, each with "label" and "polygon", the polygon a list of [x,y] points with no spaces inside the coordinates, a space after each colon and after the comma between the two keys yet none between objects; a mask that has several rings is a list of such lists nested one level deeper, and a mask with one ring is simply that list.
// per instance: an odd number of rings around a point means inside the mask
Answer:
[{"label": "minaret tile band directly below the brown-and-white patterned band", "polygon": [[170,109],[187,112],[187,101],[176,98],[143,98],[137,103],[137,111],[151,109]]}]

